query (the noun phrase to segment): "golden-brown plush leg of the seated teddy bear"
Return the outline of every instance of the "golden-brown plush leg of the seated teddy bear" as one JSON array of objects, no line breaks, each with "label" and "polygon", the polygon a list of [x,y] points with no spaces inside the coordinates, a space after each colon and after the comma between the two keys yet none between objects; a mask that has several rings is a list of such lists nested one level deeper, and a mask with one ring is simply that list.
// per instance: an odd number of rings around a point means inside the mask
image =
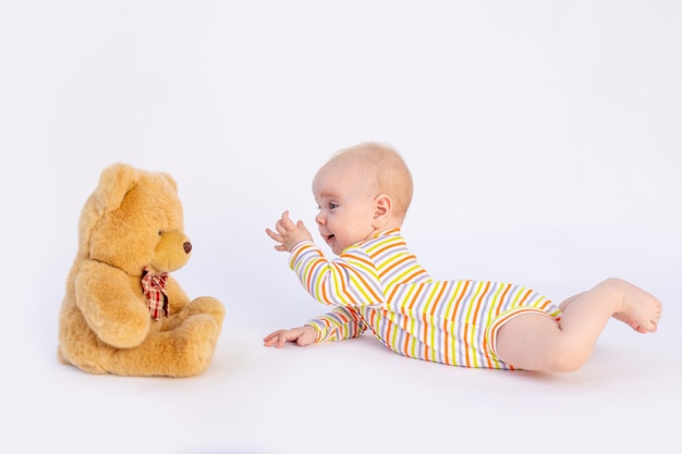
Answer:
[{"label": "golden-brown plush leg of the seated teddy bear", "polygon": [[121,376],[196,376],[210,364],[217,338],[211,316],[187,317],[174,330],[150,332],[138,347],[115,349],[107,368]]}]

